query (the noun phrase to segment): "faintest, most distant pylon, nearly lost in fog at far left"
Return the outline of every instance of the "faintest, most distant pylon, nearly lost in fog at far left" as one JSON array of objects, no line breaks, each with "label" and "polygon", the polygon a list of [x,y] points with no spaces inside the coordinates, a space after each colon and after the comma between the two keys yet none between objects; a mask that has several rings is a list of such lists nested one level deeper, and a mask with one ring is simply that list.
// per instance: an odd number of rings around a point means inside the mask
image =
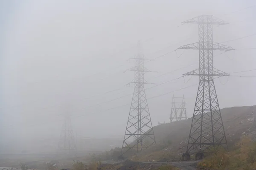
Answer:
[{"label": "faintest, most distant pylon, nearly lost in fog at far left", "polygon": [[72,130],[70,112],[67,110],[64,116],[57,154],[76,154],[76,142]]}]

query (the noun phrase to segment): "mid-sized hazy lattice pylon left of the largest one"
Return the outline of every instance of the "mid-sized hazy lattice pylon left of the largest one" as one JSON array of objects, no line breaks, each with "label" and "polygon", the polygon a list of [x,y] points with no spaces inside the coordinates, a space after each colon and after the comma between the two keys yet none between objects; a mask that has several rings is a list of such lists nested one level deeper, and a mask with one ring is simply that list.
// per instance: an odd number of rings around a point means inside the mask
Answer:
[{"label": "mid-sized hazy lattice pylon left of the largest one", "polygon": [[144,89],[144,84],[147,84],[144,74],[151,71],[144,67],[145,59],[140,54],[140,50],[133,59],[135,60],[135,66],[128,70],[134,71],[134,81],[132,82],[134,83],[134,94],[122,144],[121,156],[130,150],[139,153],[152,144],[156,144]]}]

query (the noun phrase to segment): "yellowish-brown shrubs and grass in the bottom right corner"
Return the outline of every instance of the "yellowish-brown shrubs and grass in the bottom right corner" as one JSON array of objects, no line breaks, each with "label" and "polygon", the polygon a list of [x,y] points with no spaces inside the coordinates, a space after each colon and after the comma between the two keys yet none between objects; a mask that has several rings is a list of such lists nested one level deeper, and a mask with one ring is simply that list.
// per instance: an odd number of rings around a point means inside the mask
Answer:
[{"label": "yellowish-brown shrubs and grass in the bottom right corner", "polygon": [[244,136],[230,151],[219,149],[199,162],[198,167],[206,170],[256,170],[256,142]]}]

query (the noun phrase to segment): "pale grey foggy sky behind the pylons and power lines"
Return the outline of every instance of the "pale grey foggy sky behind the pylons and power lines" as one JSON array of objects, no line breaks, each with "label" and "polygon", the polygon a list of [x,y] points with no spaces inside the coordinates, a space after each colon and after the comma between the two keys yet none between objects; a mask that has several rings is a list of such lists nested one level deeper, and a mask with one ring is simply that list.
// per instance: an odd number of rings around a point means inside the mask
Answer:
[{"label": "pale grey foggy sky behind the pylons and power lines", "polygon": [[[89,137],[122,136],[132,96],[106,101],[133,93],[132,84],[125,85],[133,80],[134,73],[123,72],[134,66],[133,60],[126,60],[137,53],[137,41],[141,40],[142,52],[148,59],[198,42],[198,26],[181,22],[201,14],[213,14],[230,22],[214,26],[215,42],[255,34],[256,6],[234,12],[253,5],[253,0],[0,1],[0,135],[6,141],[59,136],[63,122],[60,114],[70,103],[75,133]],[[252,36],[224,44],[236,49],[256,48],[255,39]],[[221,53],[214,52],[214,67],[221,71],[256,69],[256,50]],[[172,52],[146,63],[148,69],[157,71],[147,73],[146,80],[157,85],[198,68],[194,64],[157,77],[198,62],[198,51],[177,50],[180,54],[183,55],[177,58]],[[234,75],[256,76],[256,71]],[[184,77],[185,82],[190,78]],[[192,77],[184,83],[181,78],[147,90],[153,125],[169,122],[173,94],[151,97],[198,81],[198,77]],[[215,79],[220,107],[255,105],[255,85],[256,78]],[[151,86],[154,85],[145,88]],[[185,95],[189,117],[197,88],[195,85],[175,92],[175,96]],[[103,102],[106,103],[100,104]],[[122,105],[126,106],[108,110]]]}]

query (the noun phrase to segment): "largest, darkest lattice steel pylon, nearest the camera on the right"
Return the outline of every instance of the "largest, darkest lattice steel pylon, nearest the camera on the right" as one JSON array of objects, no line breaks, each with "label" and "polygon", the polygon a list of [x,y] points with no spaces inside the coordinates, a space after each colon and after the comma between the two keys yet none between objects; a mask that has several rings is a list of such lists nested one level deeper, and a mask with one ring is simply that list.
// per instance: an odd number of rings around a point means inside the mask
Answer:
[{"label": "largest, darkest lattice steel pylon, nearest the camera on the right", "polygon": [[198,24],[199,29],[199,42],[179,48],[199,50],[199,69],[183,74],[199,76],[198,93],[186,153],[204,153],[211,146],[227,146],[213,77],[229,76],[229,74],[213,67],[213,51],[234,49],[212,40],[212,26],[226,25],[227,22],[212,15],[201,15],[183,23]]}]

